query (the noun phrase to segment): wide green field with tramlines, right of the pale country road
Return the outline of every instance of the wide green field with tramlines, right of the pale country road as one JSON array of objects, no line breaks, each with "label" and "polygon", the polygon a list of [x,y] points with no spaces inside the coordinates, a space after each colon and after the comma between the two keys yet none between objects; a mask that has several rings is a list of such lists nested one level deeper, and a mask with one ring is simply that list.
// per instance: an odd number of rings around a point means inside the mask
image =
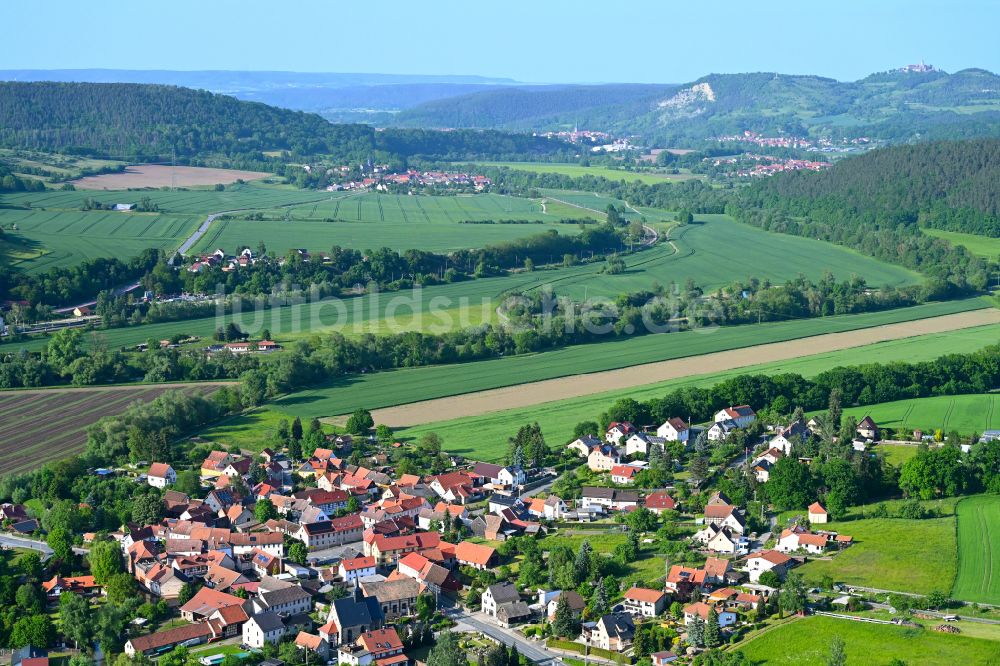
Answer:
[{"label": "wide green field with tramlines, right of the pale country road", "polygon": [[[543,212],[531,199],[477,194],[472,196],[339,195],[282,211],[264,211],[264,220],[218,220],[195,251],[215,247],[254,246],[263,241],[283,254],[290,248],[327,250],[334,245],[355,249],[389,247],[397,251],[431,252],[482,247],[556,230],[572,235],[575,224],[560,219],[603,218],[579,209]],[[465,221],[526,220],[531,224],[463,224]]]}]

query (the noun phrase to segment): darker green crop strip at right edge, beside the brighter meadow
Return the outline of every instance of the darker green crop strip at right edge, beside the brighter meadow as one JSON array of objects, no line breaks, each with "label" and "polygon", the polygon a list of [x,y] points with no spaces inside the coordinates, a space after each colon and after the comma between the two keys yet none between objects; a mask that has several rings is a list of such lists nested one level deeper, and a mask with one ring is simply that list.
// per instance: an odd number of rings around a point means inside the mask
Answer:
[{"label": "darker green crop strip at right edge, beside the brighter meadow", "polygon": [[958,577],[952,596],[1000,604],[1000,497],[979,495],[958,503]]}]

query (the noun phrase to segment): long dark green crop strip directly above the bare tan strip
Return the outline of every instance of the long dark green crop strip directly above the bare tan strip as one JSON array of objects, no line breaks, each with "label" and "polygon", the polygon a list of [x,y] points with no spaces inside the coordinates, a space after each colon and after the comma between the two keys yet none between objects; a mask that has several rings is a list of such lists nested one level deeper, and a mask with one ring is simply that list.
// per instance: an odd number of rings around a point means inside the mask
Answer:
[{"label": "long dark green crop strip directly above the bare tan strip", "polygon": [[376,372],[345,377],[328,387],[295,393],[280,400],[278,408],[302,417],[336,416],[358,407],[390,407],[555,377],[912,321],[982,306],[978,299],[949,301],[858,315],[721,327],[711,334],[693,330],[646,335],[486,361]]}]

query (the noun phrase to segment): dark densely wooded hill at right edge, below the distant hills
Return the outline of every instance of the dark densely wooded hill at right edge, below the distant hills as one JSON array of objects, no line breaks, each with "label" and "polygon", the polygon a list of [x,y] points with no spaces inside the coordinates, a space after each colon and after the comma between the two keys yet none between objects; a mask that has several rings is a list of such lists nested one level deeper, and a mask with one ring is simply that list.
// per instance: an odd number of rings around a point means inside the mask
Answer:
[{"label": "dark densely wooded hill at right edge, below the distant hills", "polygon": [[883,226],[920,224],[997,237],[1000,139],[875,150],[826,171],[785,173],[751,189],[765,207],[839,208]]}]

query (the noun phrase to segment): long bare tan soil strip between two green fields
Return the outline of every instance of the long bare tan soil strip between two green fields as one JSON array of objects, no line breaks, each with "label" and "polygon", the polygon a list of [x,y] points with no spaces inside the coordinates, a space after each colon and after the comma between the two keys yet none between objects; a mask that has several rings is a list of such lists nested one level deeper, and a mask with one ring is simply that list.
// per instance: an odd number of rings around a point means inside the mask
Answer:
[{"label": "long bare tan soil strip between two green fields", "polygon": [[544,402],[655,384],[669,379],[724,372],[759,363],[786,361],[887,340],[945,333],[996,323],[1000,323],[1000,310],[993,308],[973,310],[857,331],[828,333],[786,342],[646,363],[618,370],[570,375],[477,393],[424,400],[378,409],[372,412],[372,416],[376,423],[385,423],[393,428],[416,426],[442,419],[480,416],[505,409],[530,407]]}]

